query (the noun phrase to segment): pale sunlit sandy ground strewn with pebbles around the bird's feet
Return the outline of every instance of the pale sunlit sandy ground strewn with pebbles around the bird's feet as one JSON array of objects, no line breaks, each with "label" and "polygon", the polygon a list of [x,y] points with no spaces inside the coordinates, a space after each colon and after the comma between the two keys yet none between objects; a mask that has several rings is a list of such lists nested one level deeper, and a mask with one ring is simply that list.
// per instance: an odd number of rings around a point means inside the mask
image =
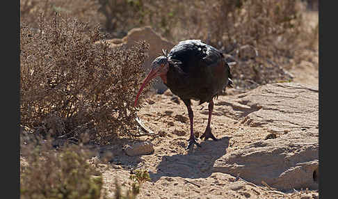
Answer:
[{"label": "pale sunlit sandy ground strewn with pebbles around the bird's feet", "polygon": [[[310,21],[318,22],[318,15],[310,13]],[[316,26],[312,23],[311,26]],[[318,85],[319,81],[319,51],[306,50],[307,59],[296,61],[287,70],[293,74],[293,81],[309,85]],[[292,63],[292,61],[291,61]],[[236,90],[228,90],[227,95],[214,100],[214,109],[222,111],[220,104],[224,104]],[[252,142],[264,139],[269,134],[267,129],[248,127],[227,115],[226,112],[212,116],[211,129],[216,138],[222,141],[219,150],[209,151],[208,145],[213,141],[200,141],[202,148],[185,150],[188,144],[190,127],[186,106],[177,100],[174,102],[170,91],[163,95],[150,95],[138,116],[146,127],[160,136],[143,136],[140,141],[149,141],[154,145],[154,153],[149,155],[129,157],[120,148],[115,148],[111,164],[103,164],[105,187],[113,196],[115,178],[126,190],[131,186],[130,171],[145,169],[150,173],[152,182],[145,182],[138,198],[318,198],[318,190],[289,190],[277,191],[268,185],[257,185],[246,182],[237,176],[225,173],[211,173],[210,167],[214,160],[208,154],[224,154],[245,148]],[[196,135],[201,135],[207,125],[207,104],[198,106],[193,101],[194,129]],[[250,132],[250,134],[246,133]],[[121,141],[121,145],[132,145],[129,141]],[[197,157],[198,156],[198,157]],[[200,158],[201,161],[195,161]],[[189,164],[189,161],[193,163]],[[170,164],[172,162],[172,164]],[[170,166],[181,164],[179,170]]]}]

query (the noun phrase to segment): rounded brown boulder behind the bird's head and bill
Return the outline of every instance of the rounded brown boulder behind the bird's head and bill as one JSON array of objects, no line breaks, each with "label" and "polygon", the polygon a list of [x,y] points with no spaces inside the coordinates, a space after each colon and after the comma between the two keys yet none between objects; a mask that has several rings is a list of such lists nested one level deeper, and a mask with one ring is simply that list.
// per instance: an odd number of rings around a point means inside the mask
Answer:
[{"label": "rounded brown boulder behind the bird's head and bill", "polygon": [[[110,47],[131,47],[136,44],[138,40],[145,40],[150,44],[149,51],[148,51],[148,58],[145,60],[143,64],[145,70],[150,69],[150,65],[154,58],[162,54],[162,49],[172,49],[174,44],[169,42],[165,38],[162,38],[159,33],[156,33],[151,26],[145,26],[142,28],[134,28],[131,29],[128,34],[122,39],[111,39],[107,40],[110,43]],[[157,90],[157,93],[163,94],[167,90],[167,86],[164,85],[162,81],[156,81],[154,83],[154,89]]]}]

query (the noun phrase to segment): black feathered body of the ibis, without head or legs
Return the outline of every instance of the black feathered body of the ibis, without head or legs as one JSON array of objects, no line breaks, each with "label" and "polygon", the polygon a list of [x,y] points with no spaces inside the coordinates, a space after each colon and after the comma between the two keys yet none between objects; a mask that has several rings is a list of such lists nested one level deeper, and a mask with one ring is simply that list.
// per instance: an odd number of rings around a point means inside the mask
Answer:
[{"label": "black feathered body of the ibis, without head or legs", "polygon": [[218,49],[200,40],[179,42],[168,54],[170,64],[166,86],[182,100],[210,102],[229,84],[230,67]]}]

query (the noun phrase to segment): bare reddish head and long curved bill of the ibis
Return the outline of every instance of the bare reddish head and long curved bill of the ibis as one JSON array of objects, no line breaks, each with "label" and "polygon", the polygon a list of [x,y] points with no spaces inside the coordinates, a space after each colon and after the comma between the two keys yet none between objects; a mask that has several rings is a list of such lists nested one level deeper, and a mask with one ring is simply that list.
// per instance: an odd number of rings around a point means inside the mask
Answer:
[{"label": "bare reddish head and long curved bill of the ibis", "polygon": [[168,70],[169,70],[168,57],[167,56],[156,57],[155,60],[152,62],[152,70],[150,70],[145,80],[143,80],[140,90],[138,90],[138,93],[136,95],[136,100],[134,102],[134,106],[136,106],[138,97],[140,97],[140,94],[142,93],[143,88],[145,88],[145,86],[147,86],[147,83],[149,83],[152,79],[156,77],[161,77],[162,81],[166,83],[166,75],[167,75]]}]

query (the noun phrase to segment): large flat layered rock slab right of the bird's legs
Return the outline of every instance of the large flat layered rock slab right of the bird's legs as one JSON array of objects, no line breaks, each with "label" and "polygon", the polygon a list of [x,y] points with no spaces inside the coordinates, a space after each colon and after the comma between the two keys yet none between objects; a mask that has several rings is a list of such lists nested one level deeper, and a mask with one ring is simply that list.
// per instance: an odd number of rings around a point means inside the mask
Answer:
[{"label": "large flat layered rock slab right of the bird's legs", "polygon": [[[227,116],[278,136],[225,153],[216,159],[213,172],[241,173],[249,182],[264,181],[280,190],[318,189],[318,97],[318,87],[271,83],[218,102],[231,108]],[[214,108],[223,113],[224,109]]]}]

